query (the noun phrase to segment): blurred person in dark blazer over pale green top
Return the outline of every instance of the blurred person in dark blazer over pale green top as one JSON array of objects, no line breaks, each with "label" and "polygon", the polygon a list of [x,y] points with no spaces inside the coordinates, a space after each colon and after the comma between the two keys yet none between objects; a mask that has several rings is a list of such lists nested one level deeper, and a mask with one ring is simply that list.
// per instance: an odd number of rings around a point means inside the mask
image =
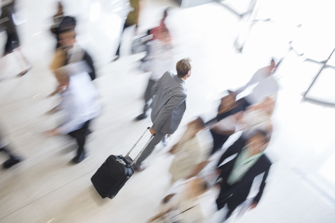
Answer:
[{"label": "blurred person in dark blazer over pale green top", "polygon": [[[268,144],[267,132],[255,130],[246,141],[235,141],[223,153],[217,165],[221,176],[221,190],[216,204],[218,210],[221,210],[225,204],[228,205],[225,219],[228,219],[235,208],[250,196],[255,179],[259,180],[260,182],[257,183],[260,184],[250,208],[255,208],[260,202],[271,167],[271,161],[263,153]],[[235,156],[231,159],[232,155]]]}]

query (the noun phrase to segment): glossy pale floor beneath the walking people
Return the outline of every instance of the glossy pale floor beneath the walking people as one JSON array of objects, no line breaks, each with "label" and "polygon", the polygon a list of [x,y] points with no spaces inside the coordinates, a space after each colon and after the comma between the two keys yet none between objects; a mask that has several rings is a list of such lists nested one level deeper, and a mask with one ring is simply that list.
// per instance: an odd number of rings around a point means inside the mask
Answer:
[{"label": "glossy pale floor beneath the walking people", "polygon": [[[18,1],[17,17],[27,20],[18,28],[22,49],[33,70],[15,78],[20,69],[14,55],[0,62],[4,78],[0,82],[1,121],[11,147],[24,157],[17,167],[0,171],[0,222],[146,222],[158,213],[169,187],[172,157],[163,146],[149,157],[149,168],[135,174],[112,201],[99,199],[90,182],[108,155],[126,153],[151,125],[149,118],[133,121],[140,114],[149,74],[137,70],[141,55],[127,53],[131,29],[126,31],[124,56],[109,63],[117,47],[122,14],[111,4],[114,1],[64,1],[68,14],[77,15],[78,40],[91,52],[98,69],[95,83],[103,112],[94,122],[94,134],[87,143],[89,157],[80,164],[69,164],[75,155],[74,143],[66,137],[42,134],[57,124],[57,116],[45,115],[57,103],[57,99],[47,98],[55,86],[48,70],[54,49],[48,28],[55,2]],[[171,5],[172,1],[143,0],[142,30],[155,26],[161,10]],[[241,86],[257,68],[267,64],[270,56],[288,52],[290,35],[284,40],[274,38],[274,27],[265,23],[255,26],[244,53],[237,54],[231,38],[237,23],[237,17],[218,3],[171,11],[168,25],[174,37],[175,60],[189,56],[194,66],[187,82],[186,114],[171,144],[190,119],[214,114],[223,90]],[[0,35],[3,45],[4,33]],[[335,221],[335,111],[301,102],[300,95],[316,71],[318,66],[303,66],[293,52],[278,70],[282,88],[274,114],[274,138],[267,151],[274,165],[259,206],[238,222]],[[308,77],[301,78],[307,72]],[[208,146],[207,132],[201,137]],[[0,162],[5,159],[1,156]]]}]

